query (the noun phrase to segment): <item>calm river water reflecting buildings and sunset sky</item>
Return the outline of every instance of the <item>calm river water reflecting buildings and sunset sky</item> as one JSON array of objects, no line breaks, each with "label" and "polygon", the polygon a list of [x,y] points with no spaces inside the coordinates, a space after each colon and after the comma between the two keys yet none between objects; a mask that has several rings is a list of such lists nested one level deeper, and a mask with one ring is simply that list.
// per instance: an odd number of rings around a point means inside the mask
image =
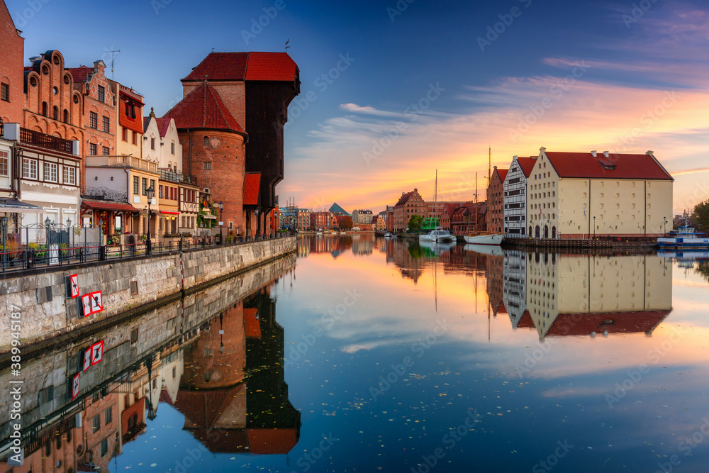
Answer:
[{"label": "calm river water reflecting buildings and sunset sky", "polygon": [[705,472],[707,261],[301,237],[26,362],[13,473]]}]

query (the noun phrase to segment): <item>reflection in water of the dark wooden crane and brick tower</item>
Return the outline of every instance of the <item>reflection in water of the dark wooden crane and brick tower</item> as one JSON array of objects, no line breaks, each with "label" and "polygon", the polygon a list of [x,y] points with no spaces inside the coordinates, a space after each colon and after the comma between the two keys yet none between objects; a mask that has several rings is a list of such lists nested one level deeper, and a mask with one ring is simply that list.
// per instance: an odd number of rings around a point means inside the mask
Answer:
[{"label": "reflection in water of the dark wooden crane and brick tower", "polygon": [[275,307],[264,289],[209,321],[185,347],[174,406],[211,452],[284,454],[298,443],[301,416],[288,400]]}]

